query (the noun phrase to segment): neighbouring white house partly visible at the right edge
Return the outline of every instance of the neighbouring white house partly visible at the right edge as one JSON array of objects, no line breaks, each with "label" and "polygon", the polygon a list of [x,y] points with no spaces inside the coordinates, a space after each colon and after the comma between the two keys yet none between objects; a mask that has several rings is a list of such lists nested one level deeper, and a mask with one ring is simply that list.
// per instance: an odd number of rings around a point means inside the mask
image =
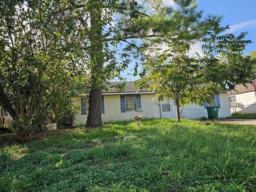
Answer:
[{"label": "neighbouring white house partly visible at the right edge", "polygon": [[256,80],[247,87],[236,85],[235,90],[228,93],[231,113],[256,113]]}]

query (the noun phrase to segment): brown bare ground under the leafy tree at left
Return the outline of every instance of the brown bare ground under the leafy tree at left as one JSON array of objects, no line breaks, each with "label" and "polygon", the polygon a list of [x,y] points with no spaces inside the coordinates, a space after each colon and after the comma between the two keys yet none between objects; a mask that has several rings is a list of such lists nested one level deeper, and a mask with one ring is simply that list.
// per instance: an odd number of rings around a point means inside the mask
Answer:
[{"label": "brown bare ground under the leafy tree at left", "polygon": [[[40,140],[45,137],[50,137],[54,136],[60,133],[67,133],[70,132],[71,129],[58,129],[58,130],[52,130],[52,131],[43,131],[43,132],[38,132],[33,135],[31,140]],[[2,147],[7,147],[7,146],[12,146],[14,144],[21,144],[21,142],[17,139],[16,135],[13,133],[7,133],[4,135],[1,135],[0,137],[0,148]]]}]

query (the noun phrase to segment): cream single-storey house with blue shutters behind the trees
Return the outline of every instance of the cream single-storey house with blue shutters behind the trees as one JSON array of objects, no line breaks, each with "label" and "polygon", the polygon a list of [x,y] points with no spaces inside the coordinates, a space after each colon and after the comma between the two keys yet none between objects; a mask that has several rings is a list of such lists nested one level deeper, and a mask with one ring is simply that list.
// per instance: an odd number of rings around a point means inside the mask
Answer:
[{"label": "cream single-storey house with blue shutters behind the trees", "polygon": [[[117,84],[120,82],[112,82]],[[134,116],[143,116],[144,118],[176,118],[176,106],[173,100],[164,99],[160,105],[154,100],[154,93],[143,90],[136,92],[137,87],[134,82],[127,82],[124,92],[119,93],[115,89],[109,92],[103,91],[101,116],[102,121],[133,119]],[[81,106],[75,118],[75,124],[84,124],[87,118],[87,106],[80,97],[73,98],[73,101]],[[207,105],[207,103],[206,103]],[[227,93],[216,93],[213,95],[211,106],[219,106],[219,117],[230,117],[230,106]],[[181,107],[182,109],[182,107]],[[205,107],[190,103],[184,106],[182,118],[199,119],[207,117]]]}]

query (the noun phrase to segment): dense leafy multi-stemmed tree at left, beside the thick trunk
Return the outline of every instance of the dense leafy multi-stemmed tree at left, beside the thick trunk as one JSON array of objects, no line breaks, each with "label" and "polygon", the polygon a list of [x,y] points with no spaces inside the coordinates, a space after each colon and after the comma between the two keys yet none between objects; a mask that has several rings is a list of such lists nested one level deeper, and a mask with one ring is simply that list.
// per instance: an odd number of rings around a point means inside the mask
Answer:
[{"label": "dense leafy multi-stemmed tree at left, beside the thick trunk", "polygon": [[0,98],[21,140],[68,118],[70,97],[86,79],[83,34],[67,8],[61,1],[0,5]]}]

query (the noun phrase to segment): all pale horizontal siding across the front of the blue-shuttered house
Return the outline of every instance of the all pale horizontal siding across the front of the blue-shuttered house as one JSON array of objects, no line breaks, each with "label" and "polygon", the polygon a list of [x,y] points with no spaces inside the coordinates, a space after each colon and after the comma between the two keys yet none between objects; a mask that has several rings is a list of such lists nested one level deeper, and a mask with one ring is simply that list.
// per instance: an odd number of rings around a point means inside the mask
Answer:
[{"label": "all pale horizontal siding across the front of the blue-shuttered house", "polygon": [[[229,99],[227,93],[219,93],[220,95],[220,108],[219,117],[230,117]],[[134,116],[143,116],[144,118],[159,118],[160,111],[156,102],[152,101],[154,94],[141,94],[141,108],[142,111],[126,111],[121,113],[121,100],[120,95],[104,95],[105,114],[102,114],[102,121],[111,120],[128,120],[133,119]],[[73,101],[78,107],[81,107],[81,98],[73,98]],[[171,102],[171,111],[173,118],[176,118],[176,108],[173,100]],[[182,107],[180,108],[182,109]],[[198,105],[191,103],[189,106],[185,106],[182,110],[183,118],[199,119],[207,117],[207,110]],[[171,117],[171,116],[170,116]],[[81,109],[78,110],[78,114],[75,118],[75,125],[86,123],[87,115],[81,115]]]}]

